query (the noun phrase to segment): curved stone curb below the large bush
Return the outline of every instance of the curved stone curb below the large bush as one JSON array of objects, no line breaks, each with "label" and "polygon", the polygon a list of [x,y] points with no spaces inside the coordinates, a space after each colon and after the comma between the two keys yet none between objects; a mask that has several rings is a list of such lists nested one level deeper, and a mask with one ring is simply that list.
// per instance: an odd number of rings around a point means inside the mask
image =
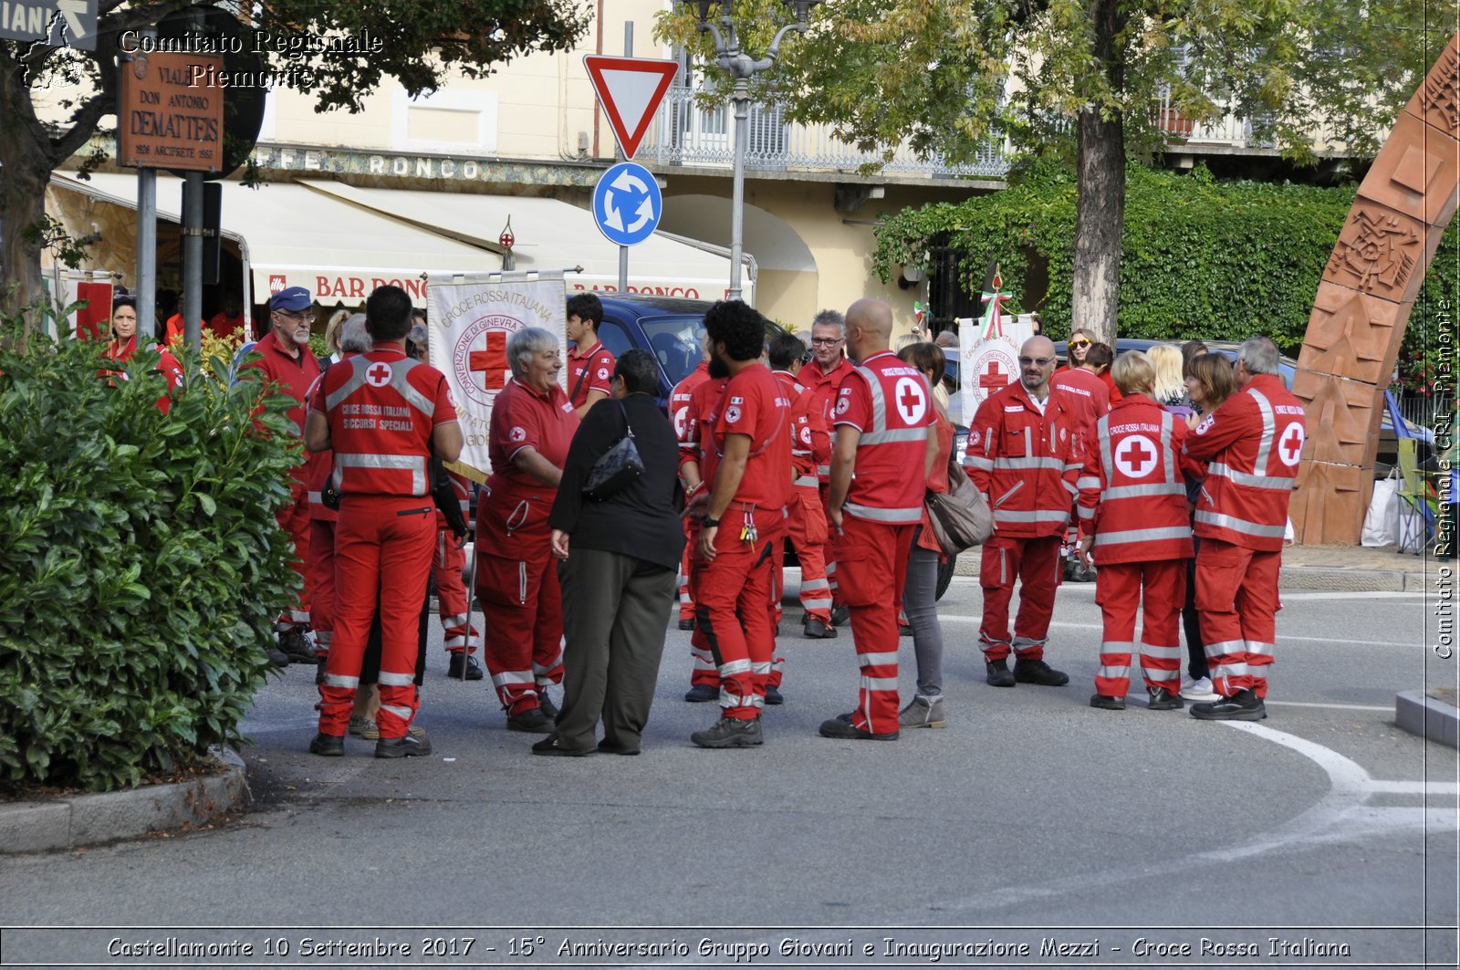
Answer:
[{"label": "curved stone curb below the large bush", "polygon": [[228,767],[215,776],[127,792],[98,792],[0,805],[0,853],[76,849],[184,825],[203,825],[250,801],[244,761],[213,751]]}]

